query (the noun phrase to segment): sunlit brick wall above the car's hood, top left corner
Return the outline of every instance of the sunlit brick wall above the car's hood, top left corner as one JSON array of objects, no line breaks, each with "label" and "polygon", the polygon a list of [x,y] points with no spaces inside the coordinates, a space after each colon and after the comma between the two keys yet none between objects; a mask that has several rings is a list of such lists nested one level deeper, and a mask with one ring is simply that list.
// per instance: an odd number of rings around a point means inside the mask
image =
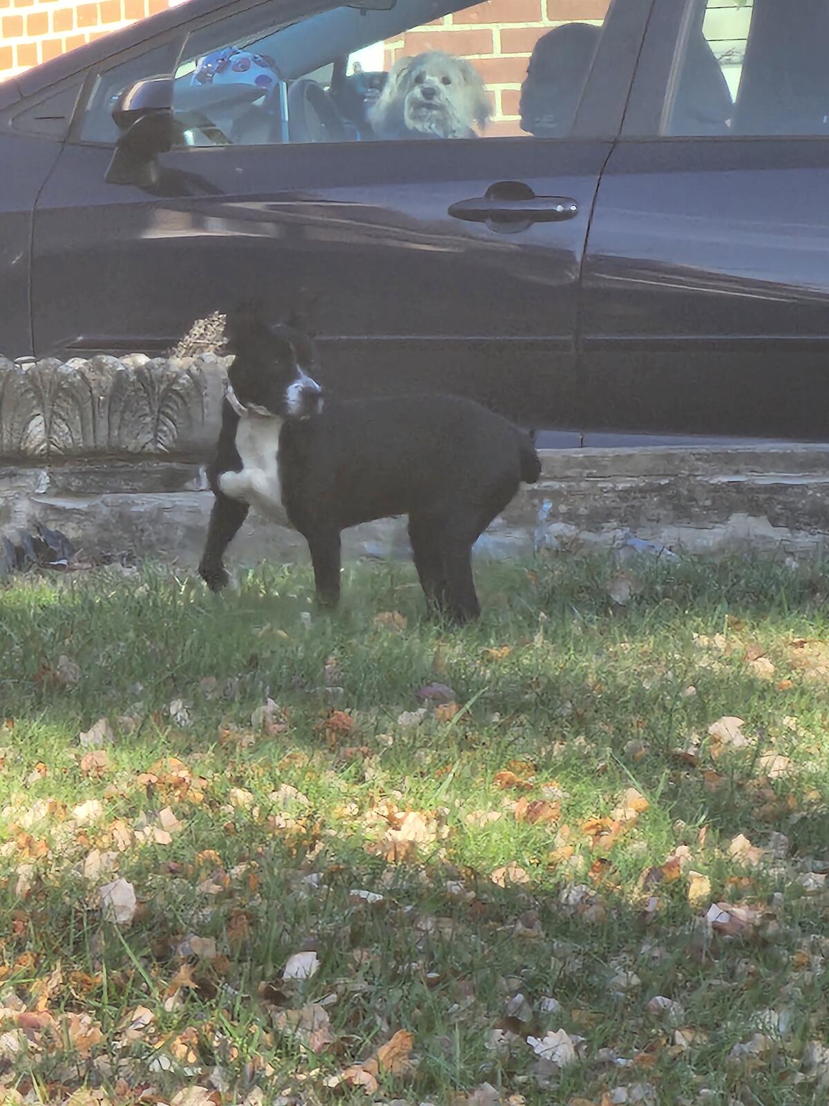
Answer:
[{"label": "sunlit brick wall above the car's hood, top left corner", "polygon": [[170,7],[170,0],[0,0],[0,81]]}]

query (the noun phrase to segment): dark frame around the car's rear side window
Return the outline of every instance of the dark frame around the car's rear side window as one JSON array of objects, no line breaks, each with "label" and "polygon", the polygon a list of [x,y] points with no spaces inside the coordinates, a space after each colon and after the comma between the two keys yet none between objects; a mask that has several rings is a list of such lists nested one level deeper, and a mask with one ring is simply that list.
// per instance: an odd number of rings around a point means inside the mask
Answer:
[{"label": "dark frame around the car's rear side window", "polygon": [[[630,90],[620,142],[654,143],[778,143],[829,142],[829,135],[671,135],[663,134],[671,94],[684,63],[684,40],[696,17],[697,0],[654,0]],[[669,45],[670,44],[670,45]]]}]

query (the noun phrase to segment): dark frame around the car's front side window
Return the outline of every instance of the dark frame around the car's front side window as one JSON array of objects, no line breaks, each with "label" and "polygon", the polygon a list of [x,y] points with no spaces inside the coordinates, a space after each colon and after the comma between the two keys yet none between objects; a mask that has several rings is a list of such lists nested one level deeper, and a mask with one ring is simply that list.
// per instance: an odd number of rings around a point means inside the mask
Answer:
[{"label": "dark frame around the car's front side window", "polygon": [[[647,40],[649,21],[652,15],[654,4],[659,0],[610,0],[608,12],[602,27],[602,35],[597,46],[590,71],[585,82],[579,106],[574,117],[574,123],[569,134],[537,138],[529,135],[499,135],[486,137],[487,143],[514,143],[514,142],[549,142],[562,143],[570,140],[592,140],[613,142],[621,133],[625,121],[626,107],[633,86],[638,70],[641,50]],[[77,98],[75,111],[70,122],[65,142],[71,145],[93,146],[113,148],[114,142],[99,142],[84,139],[81,137],[83,119],[87,111],[91,97],[94,94],[97,79],[108,73],[117,65],[132,61],[141,53],[150,53],[170,42],[177,44],[176,62],[172,72],[175,73],[181,63],[182,53],[186,50],[188,40],[199,31],[212,24],[218,24],[251,11],[256,8],[273,4],[274,0],[234,0],[233,3],[223,8],[212,8],[210,11],[193,18],[190,21],[182,21],[174,28],[169,28],[160,34],[143,39],[133,45],[122,49],[112,55],[101,59],[91,66],[85,74],[83,88]],[[330,0],[293,0],[284,3],[284,11],[280,18],[284,18],[285,23],[296,22],[318,14],[322,11],[337,8],[339,3],[332,3]],[[179,8],[179,11],[181,9]],[[608,33],[610,32],[610,33]],[[397,139],[398,142],[409,139]],[[465,139],[453,139],[464,142]],[[470,139],[472,140],[472,139]],[[311,144],[313,146],[313,144]],[[332,146],[343,145],[350,148],[358,148],[360,143],[326,143],[327,149]],[[197,153],[202,155],[209,153],[214,147],[193,146],[179,149],[176,153],[186,153],[193,156]],[[225,147],[216,147],[224,149]],[[234,150],[263,149],[258,145],[234,145]],[[282,149],[281,144],[274,144],[274,148]]]}]

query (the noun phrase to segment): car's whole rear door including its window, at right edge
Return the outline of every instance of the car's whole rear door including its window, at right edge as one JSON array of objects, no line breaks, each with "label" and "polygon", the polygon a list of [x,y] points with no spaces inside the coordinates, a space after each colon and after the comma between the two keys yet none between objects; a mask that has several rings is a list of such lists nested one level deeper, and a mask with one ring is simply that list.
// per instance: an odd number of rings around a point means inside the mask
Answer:
[{"label": "car's whole rear door including its window, at right edge", "polygon": [[585,261],[616,428],[826,438],[827,51],[823,0],[657,0]]}]

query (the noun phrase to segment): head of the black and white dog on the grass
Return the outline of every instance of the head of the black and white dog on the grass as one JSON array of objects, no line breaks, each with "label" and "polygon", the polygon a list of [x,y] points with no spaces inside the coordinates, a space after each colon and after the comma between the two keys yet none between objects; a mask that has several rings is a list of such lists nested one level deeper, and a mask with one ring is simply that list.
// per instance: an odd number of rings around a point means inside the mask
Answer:
[{"label": "head of the black and white dog on the grass", "polygon": [[228,378],[245,413],[307,418],[323,409],[316,345],[298,320],[271,325],[261,309],[241,309],[228,315],[225,335],[234,354]]}]

